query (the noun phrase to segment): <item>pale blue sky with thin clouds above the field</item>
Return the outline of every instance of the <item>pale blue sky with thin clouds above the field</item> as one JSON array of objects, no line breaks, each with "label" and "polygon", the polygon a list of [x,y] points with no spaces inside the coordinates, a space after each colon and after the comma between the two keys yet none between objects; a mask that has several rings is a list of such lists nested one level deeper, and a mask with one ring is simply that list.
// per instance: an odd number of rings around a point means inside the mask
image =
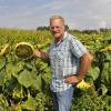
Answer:
[{"label": "pale blue sky with thin clouds above the field", "polygon": [[111,0],[0,0],[0,28],[37,29],[52,16],[70,29],[111,28]]}]

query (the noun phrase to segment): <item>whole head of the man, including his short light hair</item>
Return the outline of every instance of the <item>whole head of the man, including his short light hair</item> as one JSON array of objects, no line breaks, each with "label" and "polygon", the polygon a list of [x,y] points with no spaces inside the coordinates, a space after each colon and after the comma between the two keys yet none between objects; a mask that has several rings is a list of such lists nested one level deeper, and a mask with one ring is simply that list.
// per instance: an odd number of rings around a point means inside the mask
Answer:
[{"label": "whole head of the man, including his short light hair", "polygon": [[58,40],[64,34],[64,19],[60,16],[53,16],[50,18],[50,31]]}]

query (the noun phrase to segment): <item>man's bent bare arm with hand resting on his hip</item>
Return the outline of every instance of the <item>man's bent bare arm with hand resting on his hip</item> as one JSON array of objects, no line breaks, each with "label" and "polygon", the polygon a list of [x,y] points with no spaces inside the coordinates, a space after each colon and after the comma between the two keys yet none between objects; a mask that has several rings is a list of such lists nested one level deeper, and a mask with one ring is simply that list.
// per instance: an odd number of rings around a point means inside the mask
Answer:
[{"label": "man's bent bare arm with hand resting on his hip", "polygon": [[72,75],[64,77],[65,78],[64,82],[67,82],[67,83],[78,83],[78,82],[80,82],[84,78],[85,73],[88,72],[92,60],[93,60],[92,54],[90,54],[89,52],[84,53],[81,57],[81,60],[80,60],[79,72],[75,75],[72,74]]}]

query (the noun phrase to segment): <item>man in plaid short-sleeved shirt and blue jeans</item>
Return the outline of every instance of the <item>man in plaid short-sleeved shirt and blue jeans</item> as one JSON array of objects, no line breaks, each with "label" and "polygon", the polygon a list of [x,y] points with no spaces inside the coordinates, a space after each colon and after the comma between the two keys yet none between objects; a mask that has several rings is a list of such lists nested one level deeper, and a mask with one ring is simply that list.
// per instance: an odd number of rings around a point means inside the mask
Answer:
[{"label": "man in plaid short-sleeved shirt and blue jeans", "polygon": [[34,54],[50,61],[50,89],[56,111],[70,111],[74,91],[72,85],[84,78],[93,57],[75,37],[65,31],[62,17],[50,18],[50,31],[54,41],[49,53],[36,50]]}]

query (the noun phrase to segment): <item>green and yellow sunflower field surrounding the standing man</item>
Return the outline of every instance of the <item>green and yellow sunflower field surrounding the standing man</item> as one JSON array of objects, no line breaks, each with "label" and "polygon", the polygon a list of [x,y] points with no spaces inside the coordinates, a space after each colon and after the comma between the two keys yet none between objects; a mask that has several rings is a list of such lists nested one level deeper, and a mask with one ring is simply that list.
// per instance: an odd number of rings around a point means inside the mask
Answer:
[{"label": "green and yellow sunflower field surrounding the standing man", "polygon": [[[91,87],[75,88],[71,111],[111,111],[111,30],[69,32],[94,57],[84,79]],[[0,29],[0,111],[54,111],[50,64],[16,56],[19,42],[47,52],[52,40],[49,30]]]}]

